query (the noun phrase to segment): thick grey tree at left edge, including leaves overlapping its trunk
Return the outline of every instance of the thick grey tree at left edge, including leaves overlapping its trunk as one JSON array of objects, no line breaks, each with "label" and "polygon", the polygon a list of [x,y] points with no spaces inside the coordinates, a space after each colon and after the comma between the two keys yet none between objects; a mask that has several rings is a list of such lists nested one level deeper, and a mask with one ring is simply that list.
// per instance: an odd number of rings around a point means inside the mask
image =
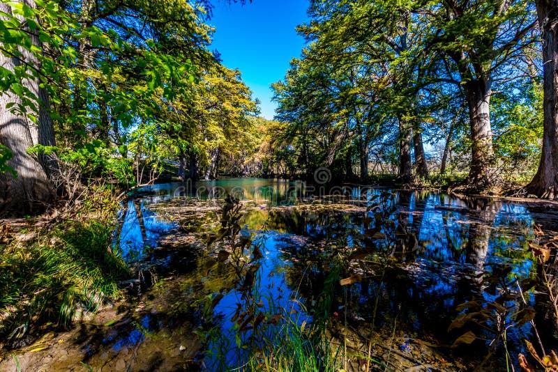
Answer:
[{"label": "thick grey tree at left edge, including leaves overlapping its trunk", "polygon": [[48,95],[38,77],[36,53],[43,49],[35,8],[34,1],[0,3],[3,27],[13,31],[0,45],[0,65],[9,84],[0,95],[0,144],[10,149],[7,165],[15,172],[0,174],[0,212],[9,215],[39,212],[54,199],[45,168],[27,152],[38,144],[54,146]]}]

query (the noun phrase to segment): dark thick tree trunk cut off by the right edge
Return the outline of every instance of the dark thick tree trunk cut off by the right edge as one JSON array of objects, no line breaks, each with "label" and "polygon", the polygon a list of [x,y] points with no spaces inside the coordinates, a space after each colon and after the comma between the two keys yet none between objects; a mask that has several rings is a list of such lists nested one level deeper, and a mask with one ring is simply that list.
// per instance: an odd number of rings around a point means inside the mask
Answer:
[{"label": "dark thick tree trunk cut off by the right edge", "polygon": [[544,129],[541,162],[527,191],[545,199],[558,199],[558,3],[536,0],[543,36]]}]

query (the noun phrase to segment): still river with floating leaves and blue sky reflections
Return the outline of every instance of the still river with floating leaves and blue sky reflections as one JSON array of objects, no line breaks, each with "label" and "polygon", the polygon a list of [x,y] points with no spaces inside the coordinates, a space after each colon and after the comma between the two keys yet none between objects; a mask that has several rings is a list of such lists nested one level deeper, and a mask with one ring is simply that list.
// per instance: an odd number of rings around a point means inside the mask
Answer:
[{"label": "still river with floating leaves and blue sky reflections", "polygon": [[[234,279],[231,259],[219,253],[227,247],[206,245],[221,227],[227,194],[243,201],[240,235],[262,251],[263,258],[252,258],[257,265],[243,261],[255,268],[251,304],[265,316],[262,331],[239,323],[250,306],[239,290],[246,273]],[[126,284],[130,300],[101,309],[78,330],[51,334],[35,345],[40,350],[22,351],[20,364],[50,371],[243,369],[250,347],[264,348],[255,338],[273,339],[285,323],[311,329],[318,321],[354,371],[363,369],[368,350],[380,361],[376,368],[401,371],[472,369],[492,350],[484,365],[505,371],[499,327],[516,368],[518,353],[529,354],[524,340],[547,351],[558,346],[542,284],[519,290],[541,276],[529,244],[558,235],[557,209],[244,178],[141,189],[120,221],[114,246],[138,273]],[[329,286],[333,273],[340,277]],[[467,332],[476,339],[451,347]]]}]

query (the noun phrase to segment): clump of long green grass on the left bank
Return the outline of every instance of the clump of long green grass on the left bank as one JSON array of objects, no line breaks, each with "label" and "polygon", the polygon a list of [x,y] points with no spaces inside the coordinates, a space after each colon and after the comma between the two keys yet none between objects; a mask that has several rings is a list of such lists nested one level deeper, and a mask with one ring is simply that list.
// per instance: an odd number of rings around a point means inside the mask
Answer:
[{"label": "clump of long green grass on the left bank", "polygon": [[0,337],[68,325],[77,309],[119,297],[116,283],[130,270],[110,249],[112,230],[110,221],[63,222],[29,245],[0,247]]}]

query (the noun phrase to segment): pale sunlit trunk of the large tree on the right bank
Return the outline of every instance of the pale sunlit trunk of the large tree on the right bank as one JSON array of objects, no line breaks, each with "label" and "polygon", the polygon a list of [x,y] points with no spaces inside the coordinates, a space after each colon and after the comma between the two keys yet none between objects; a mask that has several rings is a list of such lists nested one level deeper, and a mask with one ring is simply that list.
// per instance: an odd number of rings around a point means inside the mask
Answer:
[{"label": "pale sunlit trunk of the large tree on the right bank", "polygon": [[469,106],[471,125],[471,168],[467,183],[480,191],[489,191],[499,181],[492,150],[490,127],[490,79],[476,79],[463,85]]}]

